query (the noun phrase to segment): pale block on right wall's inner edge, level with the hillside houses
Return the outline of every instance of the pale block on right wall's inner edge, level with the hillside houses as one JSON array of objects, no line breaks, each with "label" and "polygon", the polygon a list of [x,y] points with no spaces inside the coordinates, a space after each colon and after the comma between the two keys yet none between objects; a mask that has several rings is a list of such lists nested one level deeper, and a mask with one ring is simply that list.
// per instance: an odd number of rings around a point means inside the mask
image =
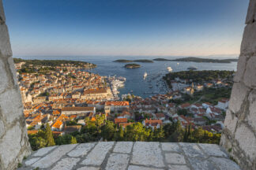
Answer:
[{"label": "pale block on right wall's inner edge, level with the hillside houses", "polygon": [[243,83],[234,83],[232,88],[231,99],[229,102],[229,109],[232,113],[238,113],[241,109],[244,99],[247,96],[247,92],[250,89],[243,85]]}]

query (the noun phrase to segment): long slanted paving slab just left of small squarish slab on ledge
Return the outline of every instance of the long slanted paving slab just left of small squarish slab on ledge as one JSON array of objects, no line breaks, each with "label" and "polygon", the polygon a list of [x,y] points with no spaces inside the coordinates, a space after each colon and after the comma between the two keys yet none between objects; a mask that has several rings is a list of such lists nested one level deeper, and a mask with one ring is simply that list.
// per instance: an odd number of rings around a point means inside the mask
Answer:
[{"label": "long slanted paving slab just left of small squarish slab on ledge", "polygon": [[81,164],[100,166],[113,145],[114,142],[99,142]]}]

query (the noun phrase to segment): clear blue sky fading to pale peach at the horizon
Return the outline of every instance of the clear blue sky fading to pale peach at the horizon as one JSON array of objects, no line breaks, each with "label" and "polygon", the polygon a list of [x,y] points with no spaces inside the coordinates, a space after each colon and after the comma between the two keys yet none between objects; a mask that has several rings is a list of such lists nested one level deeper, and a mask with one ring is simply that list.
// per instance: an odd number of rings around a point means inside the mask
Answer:
[{"label": "clear blue sky fading to pale peach at the horizon", "polygon": [[239,56],[249,0],[3,0],[13,56]]}]

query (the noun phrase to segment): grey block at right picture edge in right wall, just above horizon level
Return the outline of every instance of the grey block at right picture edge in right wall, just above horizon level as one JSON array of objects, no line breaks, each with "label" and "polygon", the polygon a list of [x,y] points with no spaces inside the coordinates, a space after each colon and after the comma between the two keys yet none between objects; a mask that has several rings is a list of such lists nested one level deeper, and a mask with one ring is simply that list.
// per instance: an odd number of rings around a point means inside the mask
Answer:
[{"label": "grey block at right picture edge in right wall, just above horizon level", "polygon": [[[241,44],[241,54],[251,56],[256,54],[256,22],[247,24],[243,32],[243,41]],[[249,62],[248,62],[249,63]]]}]

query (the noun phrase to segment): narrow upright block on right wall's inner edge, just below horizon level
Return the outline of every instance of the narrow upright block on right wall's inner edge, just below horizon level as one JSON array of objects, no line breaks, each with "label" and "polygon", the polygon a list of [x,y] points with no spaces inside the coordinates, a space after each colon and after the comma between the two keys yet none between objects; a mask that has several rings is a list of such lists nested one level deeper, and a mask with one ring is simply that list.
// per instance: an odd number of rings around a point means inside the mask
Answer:
[{"label": "narrow upright block on right wall's inner edge, just below horizon level", "polygon": [[234,82],[239,83],[240,81],[243,80],[243,74],[247,66],[247,59],[248,57],[245,57],[245,56],[239,57],[239,61],[237,63],[237,70],[235,72]]}]

